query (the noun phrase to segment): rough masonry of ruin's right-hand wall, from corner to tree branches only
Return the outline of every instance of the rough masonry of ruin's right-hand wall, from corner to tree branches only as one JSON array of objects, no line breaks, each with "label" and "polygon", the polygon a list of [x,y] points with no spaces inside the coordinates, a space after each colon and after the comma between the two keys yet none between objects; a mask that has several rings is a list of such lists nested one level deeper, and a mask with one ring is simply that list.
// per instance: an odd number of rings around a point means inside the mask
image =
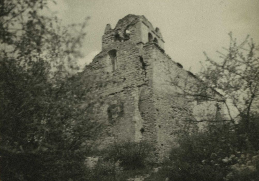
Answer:
[{"label": "rough masonry of ruin's right-hand wall, from corner to tree branches only", "polygon": [[[154,45],[153,45],[154,46]],[[156,127],[158,129],[158,150],[160,159],[168,154],[180,134],[197,129],[193,122],[186,119],[192,105],[186,105],[184,97],[171,82],[174,78],[184,80],[188,74],[181,65],[154,46],[153,90],[156,108]],[[192,78],[192,77],[191,77]]]}]

